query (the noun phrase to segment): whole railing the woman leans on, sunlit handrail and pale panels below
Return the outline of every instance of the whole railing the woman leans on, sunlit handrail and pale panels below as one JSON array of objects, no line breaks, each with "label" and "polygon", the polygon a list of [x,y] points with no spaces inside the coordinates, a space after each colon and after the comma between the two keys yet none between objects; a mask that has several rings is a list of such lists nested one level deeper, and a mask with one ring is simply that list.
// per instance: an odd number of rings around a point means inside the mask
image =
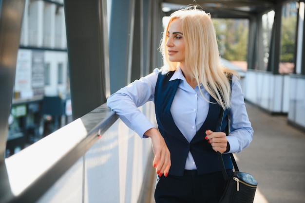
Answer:
[{"label": "whole railing the woman leans on, sunlit handrail and pale panels below", "polygon": [[[152,107],[140,110],[153,119]],[[134,134],[101,105],[5,159],[0,203],[145,202],[153,185],[152,148]]]}]

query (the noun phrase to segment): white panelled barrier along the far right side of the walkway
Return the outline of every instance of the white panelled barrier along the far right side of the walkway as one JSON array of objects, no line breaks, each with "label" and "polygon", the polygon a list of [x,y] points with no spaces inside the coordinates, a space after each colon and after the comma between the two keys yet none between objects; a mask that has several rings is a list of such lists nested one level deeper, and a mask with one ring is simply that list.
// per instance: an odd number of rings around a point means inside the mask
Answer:
[{"label": "white panelled barrier along the far right side of the walkway", "polygon": [[271,113],[287,113],[290,124],[305,128],[304,75],[248,70],[243,80],[246,100]]}]

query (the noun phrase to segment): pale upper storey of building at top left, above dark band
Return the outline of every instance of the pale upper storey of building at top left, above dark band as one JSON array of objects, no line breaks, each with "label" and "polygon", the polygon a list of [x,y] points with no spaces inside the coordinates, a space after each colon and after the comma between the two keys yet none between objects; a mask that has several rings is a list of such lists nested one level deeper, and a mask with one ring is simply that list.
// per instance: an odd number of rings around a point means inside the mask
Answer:
[{"label": "pale upper storey of building at top left, above dark band", "polygon": [[25,0],[20,45],[66,49],[63,6],[43,0]]}]

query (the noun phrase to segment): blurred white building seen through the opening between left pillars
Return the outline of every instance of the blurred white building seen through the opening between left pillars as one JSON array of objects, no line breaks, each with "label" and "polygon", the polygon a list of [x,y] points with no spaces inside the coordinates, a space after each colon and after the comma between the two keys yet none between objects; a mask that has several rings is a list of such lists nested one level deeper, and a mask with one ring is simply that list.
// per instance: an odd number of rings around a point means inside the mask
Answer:
[{"label": "blurred white building seen through the opening between left pillars", "polygon": [[6,157],[71,115],[63,0],[25,0]]}]

